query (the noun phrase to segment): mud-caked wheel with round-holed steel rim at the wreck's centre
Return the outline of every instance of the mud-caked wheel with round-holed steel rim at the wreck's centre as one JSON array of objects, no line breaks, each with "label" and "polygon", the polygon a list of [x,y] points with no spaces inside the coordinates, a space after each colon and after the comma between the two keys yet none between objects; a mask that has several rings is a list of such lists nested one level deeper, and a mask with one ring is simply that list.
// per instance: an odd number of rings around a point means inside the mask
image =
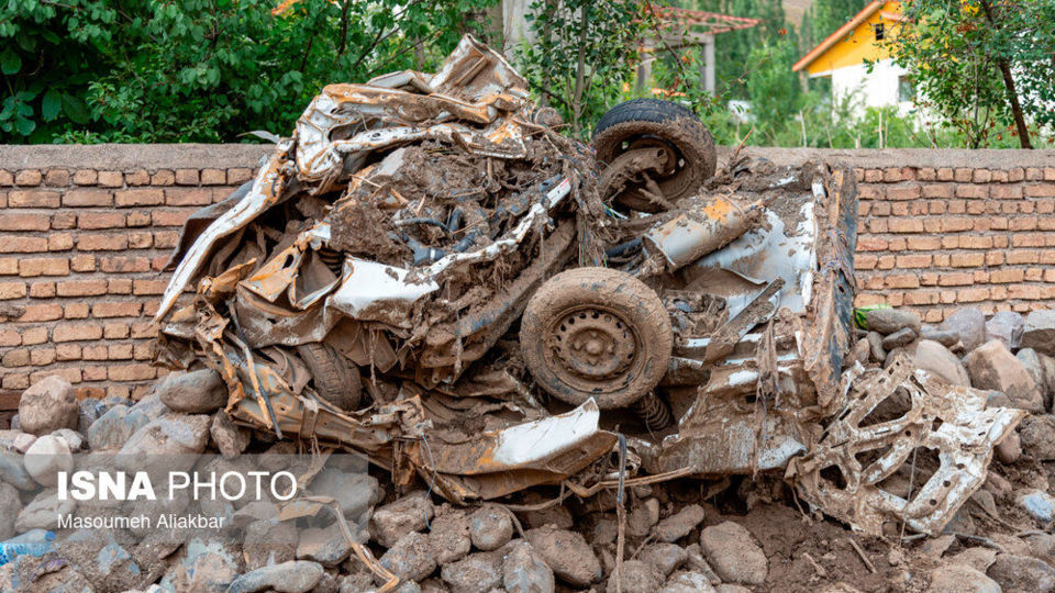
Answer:
[{"label": "mud-caked wheel with round-holed steel rim at the wreck's centre", "polygon": [[524,363],[542,389],[579,405],[625,407],[651,392],[670,360],[674,336],[659,296],[608,268],[551,278],[528,301],[520,325]]}]

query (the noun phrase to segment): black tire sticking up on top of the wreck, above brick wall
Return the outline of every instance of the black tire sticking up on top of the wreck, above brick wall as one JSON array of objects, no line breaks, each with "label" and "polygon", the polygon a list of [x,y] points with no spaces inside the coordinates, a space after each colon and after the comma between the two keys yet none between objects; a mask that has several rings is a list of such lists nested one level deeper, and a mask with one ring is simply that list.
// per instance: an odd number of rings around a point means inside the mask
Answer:
[{"label": "black tire sticking up on top of the wreck, above brick wall", "polygon": [[[663,198],[671,204],[696,193],[718,166],[711,132],[695,113],[670,101],[634,99],[620,103],[608,110],[593,131],[597,159],[606,166],[628,150],[647,146],[665,147],[671,154],[668,169],[656,180]],[[633,189],[613,197],[613,201],[641,212],[663,210]]]}]

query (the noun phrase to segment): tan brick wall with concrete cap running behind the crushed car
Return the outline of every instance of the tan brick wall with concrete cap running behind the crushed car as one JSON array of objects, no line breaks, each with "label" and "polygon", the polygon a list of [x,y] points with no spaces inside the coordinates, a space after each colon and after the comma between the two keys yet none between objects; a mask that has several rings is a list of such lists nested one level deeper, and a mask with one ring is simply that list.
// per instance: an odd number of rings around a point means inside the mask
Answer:
[{"label": "tan brick wall with concrete cap running behind the crushed car", "polygon": [[[268,152],[0,146],[0,403],[51,373],[82,395],[141,393],[157,376],[151,317],[179,226]],[[746,153],[855,168],[859,304],[912,306],[932,322],[966,304],[1055,304],[1055,152]]]}]

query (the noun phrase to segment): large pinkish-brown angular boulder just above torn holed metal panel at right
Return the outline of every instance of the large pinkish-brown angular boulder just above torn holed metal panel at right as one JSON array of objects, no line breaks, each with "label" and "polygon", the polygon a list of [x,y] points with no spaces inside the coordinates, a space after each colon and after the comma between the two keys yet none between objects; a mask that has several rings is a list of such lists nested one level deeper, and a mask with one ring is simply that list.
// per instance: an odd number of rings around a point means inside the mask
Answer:
[{"label": "large pinkish-brown angular boulder just above torn holed metal panel at right", "polygon": [[975,389],[1000,391],[1014,407],[1044,412],[1044,400],[1036,383],[1003,343],[995,339],[975,348],[964,358],[964,366]]}]

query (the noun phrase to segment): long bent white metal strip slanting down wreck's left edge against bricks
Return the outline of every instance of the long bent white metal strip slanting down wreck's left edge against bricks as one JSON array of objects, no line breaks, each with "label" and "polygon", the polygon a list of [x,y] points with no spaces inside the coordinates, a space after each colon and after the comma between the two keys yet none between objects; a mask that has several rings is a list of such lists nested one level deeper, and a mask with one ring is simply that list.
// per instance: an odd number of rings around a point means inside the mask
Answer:
[{"label": "long bent white metal strip slanting down wreck's left edge against bricks", "polygon": [[270,161],[260,169],[253,182],[253,189],[245,194],[231,210],[224,212],[220,217],[213,221],[201,235],[195,239],[193,245],[187,250],[184,259],[176,267],[173,277],[165,288],[162,302],[154,314],[154,321],[158,322],[165,317],[165,314],[173,307],[173,303],[179,294],[187,288],[191,279],[201,269],[206,256],[212,250],[212,247],[221,238],[242,228],[258,214],[270,208],[278,200],[278,193],[285,186],[285,175],[280,169],[287,163],[286,154],[291,148],[290,141],[284,141],[275,150]]}]

